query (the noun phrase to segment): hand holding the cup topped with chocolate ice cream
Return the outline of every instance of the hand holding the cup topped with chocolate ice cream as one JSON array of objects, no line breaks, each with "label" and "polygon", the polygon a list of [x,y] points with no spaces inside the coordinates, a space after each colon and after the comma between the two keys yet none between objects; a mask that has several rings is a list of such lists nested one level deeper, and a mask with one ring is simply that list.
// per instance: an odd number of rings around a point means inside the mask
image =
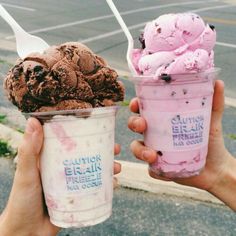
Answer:
[{"label": "hand holding the cup topped with chocolate ice cream", "polygon": [[[0,216],[0,235],[56,235],[60,228],[47,214],[39,172],[39,157],[43,145],[43,129],[39,121],[30,118],[18,149],[18,162],[12,190]],[[115,145],[115,154],[120,152]],[[120,164],[114,164],[119,173]]]}]

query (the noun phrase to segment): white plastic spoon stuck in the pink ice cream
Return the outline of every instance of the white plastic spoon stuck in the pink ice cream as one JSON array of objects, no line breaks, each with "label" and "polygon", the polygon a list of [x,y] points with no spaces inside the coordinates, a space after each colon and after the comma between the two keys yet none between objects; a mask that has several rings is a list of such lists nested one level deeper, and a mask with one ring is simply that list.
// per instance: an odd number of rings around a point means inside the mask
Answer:
[{"label": "white plastic spoon stuck in the pink ice cream", "polygon": [[112,0],[106,0],[106,1],[107,1],[107,4],[109,5],[109,7],[111,8],[113,14],[115,15],[117,21],[119,22],[122,30],[124,31],[127,39],[128,39],[128,49],[127,49],[126,59],[127,59],[128,66],[129,66],[131,73],[133,75],[137,75],[137,71],[135,70],[132,60],[131,60],[132,50],[134,48],[133,37],[132,37],[131,33],[129,32],[128,27],[126,26],[124,20],[122,19],[121,15],[120,15],[119,11],[117,10],[116,6],[114,5],[113,1]]}]

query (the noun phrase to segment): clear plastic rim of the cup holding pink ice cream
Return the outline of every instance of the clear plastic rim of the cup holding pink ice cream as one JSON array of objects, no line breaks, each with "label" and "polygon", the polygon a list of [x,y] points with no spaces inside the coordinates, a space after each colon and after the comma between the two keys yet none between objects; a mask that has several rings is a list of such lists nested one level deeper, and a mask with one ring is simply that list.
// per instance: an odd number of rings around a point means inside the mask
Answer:
[{"label": "clear plastic rim of the cup holding pink ice cream", "polygon": [[167,84],[173,82],[194,82],[199,81],[199,77],[203,75],[210,74],[218,74],[221,71],[221,68],[214,67],[205,71],[197,72],[197,73],[182,73],[182,74],[166,74],[166,76],[170,76],[170,81],[165,81],[161,78],[161,76],[155,75],[132,75],[131,81],[135,84],[143,83],[145,84]]}]

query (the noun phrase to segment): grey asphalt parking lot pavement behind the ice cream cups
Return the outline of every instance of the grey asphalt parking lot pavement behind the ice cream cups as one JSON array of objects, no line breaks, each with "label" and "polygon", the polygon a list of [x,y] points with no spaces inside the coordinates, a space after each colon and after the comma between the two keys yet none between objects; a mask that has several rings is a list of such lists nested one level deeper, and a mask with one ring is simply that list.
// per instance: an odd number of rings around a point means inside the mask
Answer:
[{"label": "grey asphalt parking lot pavement behind the ice cream cups", "polygon": [[[236,98],[236,1],[170,1],[117,0],[118,9],[137,40],[145,22],[169,12],[195,11],[217,30],[215,64],[222,68],[226,96]],[[50,45],[66,41],[82,41],[120,71],[127,72],[125,60],[127,41],[105,0],[5,0],[7,10],[28,32],[44,38]],[[15,39],[9,26],[0,19],[0,76],[3,77],[16,60]],[[125,74],[125,73],[124,73]],[[126,87],[126,100],[135,96],[133,84],[120,79]],[[2,80],[0,80],[2,83]],[[0,114],[12,110],[0,84]],[[13,110],[12,110],[13,111]],[[9,119],[24,126],[16,110]],[[128,131],[127,106],[117,114],[116,142],[122,145],[118,159],[136,160],[129,144],[141,135]],[[19,118],[20,117],[20,118]],[[226,147],[236,156],[236,109],[226,106],[223,129]],[[18,119],[19,118],[19,119]],[[4,208],[12,184],[12,160],[0,158],[0,212]],[[158,236],[234,236],[236,215],[225,206],[189,198],[176,198],[120,187],[114,192],[113,214],[109,220],[94,227],[62,230],[60,236],[158,235]]]}]

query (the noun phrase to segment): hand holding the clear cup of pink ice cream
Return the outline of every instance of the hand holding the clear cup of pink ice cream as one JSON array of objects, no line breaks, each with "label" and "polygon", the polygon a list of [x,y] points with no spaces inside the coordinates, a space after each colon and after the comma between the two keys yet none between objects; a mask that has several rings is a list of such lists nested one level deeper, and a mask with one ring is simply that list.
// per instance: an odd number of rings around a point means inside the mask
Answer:
[{"label": "hand holding the clear cup of pink ice cream", "polygon": [[[132,112],[138,112],[137,98],[131,101],[130,110]],[[213,192],[215,186],[220,184],[221,179],[223,179],[226,173],[229,171],[229,168],[232,166],[232,162],[235,161],[234,158],[228,153],[224,145],[222,133],[223,111],[224,83],[223,81],[218,80],[215,83],[215,91],[213,97],[208,155],[205,168],[200,173],[200,175],[182,179],[168,179],[160,177],[149,170],[150,176],[162,180],[172,180],[180,184],[189,185]],[[134,132],[142,133],[145,131],[147,125],[143,118],[132,116],[128,121],[128,127]],[[157,152],[146,147],[142,141],[133,141],[131,143],[131,151],[136,156],[136,158],[146,161],[150,164],[155,162],[156,158],[158,158]]]}]

